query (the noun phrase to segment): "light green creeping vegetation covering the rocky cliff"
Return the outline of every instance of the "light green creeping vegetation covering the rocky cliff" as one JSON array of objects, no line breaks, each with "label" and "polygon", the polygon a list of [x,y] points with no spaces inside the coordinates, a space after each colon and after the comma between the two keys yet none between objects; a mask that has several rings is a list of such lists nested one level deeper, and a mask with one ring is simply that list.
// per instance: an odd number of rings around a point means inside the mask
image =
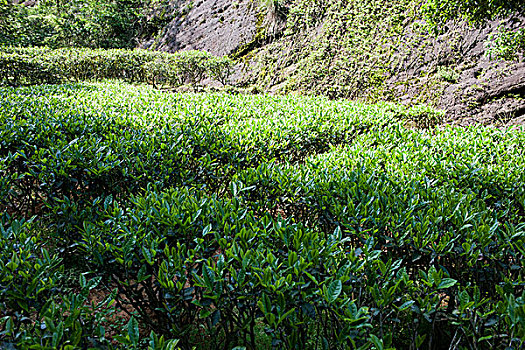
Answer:
[{"label": "light green creeping vegetation covering the rocky cliff", "polygon": [[[442,0],[425,6],[414,0],[279,3],[287,6],[283,37],[255,53],[256,68],[248,81],[283,92],[371,100],[399,99],[407,86],[417,86],[413,102],[429,103],[444,89],[438,72],[453,74],[472,45],[462,37],[464,27],[453,20],[479,25],[509,13],[518,20],[523,14],[520,1],[480,7],[478,2]],[[501,31],[487,44],[495,58],[517,59],[524,49],[523,29]]]}]

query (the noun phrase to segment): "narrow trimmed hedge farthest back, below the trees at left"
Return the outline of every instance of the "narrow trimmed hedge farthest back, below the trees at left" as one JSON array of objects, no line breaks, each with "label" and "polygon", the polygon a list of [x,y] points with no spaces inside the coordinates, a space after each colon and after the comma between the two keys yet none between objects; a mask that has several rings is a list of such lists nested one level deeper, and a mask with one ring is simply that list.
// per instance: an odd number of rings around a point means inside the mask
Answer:
[{"label": "narrow trimmed hedge farthest back, below the trees at left", "polygon": [[0,48],[0,84],[35,85],[123,79],[172,87],[199,85],[206,77],[229,82],[233,61],[202,51]]}]

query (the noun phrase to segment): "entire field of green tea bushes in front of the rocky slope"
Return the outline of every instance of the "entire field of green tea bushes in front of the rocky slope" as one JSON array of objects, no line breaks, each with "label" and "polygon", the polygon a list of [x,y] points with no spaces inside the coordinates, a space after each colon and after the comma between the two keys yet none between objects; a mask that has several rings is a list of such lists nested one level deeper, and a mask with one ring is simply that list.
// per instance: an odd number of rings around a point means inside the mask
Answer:
[{"label": "entire field of green tea bushes in front of the rocky slope", "polygon": [[520,129],[117,83],[0,100],[0,347],[524,346]]}]

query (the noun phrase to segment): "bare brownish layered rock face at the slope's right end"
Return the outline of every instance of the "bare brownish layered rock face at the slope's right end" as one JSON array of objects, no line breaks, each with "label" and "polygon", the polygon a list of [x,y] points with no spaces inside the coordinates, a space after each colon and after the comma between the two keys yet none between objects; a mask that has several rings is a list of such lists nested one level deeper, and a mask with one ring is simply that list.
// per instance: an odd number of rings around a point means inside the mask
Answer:
[{"label": "bare brownish layered rock face at the slope's right end", "polygon": [[[525,63],[491,59],[486,54],[486,43],[500,25],[517,28],[525,24],[518,21],[491,21],[484,27],[473,29],[466,24],[451,25],[449,32],[437,38],[429,54],[415,66],[389,80],[398,91],[400,100],[412,104],[421,91],[436,91],[439,109],[446,111],[446,123],[459,125],[523,123],[525,115]],[[451,35],[452,34],[452,35]],[[450,39],[455,37],[454,45]],[[413,60],[410,57],[406,59]],[[456,81],[441,79],[436,85],[437,69],[445,67],[457,74]],[[421,77],[422,72],[430,73]],[[439,80],[439,77],[438,77]],[[399,84],[401,82],[410,84]]]}]

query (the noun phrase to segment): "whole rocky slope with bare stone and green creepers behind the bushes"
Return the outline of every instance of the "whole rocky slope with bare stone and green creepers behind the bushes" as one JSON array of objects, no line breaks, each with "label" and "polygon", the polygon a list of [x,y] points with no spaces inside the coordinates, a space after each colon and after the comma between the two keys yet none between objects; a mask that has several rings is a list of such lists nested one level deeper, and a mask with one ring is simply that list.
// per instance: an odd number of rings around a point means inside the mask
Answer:
[{"label": "whole rocky slope with bare stone and green creepers behind the bushes", "polygon": [[523,27],[523,18],[450,23],[436,36],[420,2],[388,2],[178,1],[174,20],[144,46],[233,55],[238,84],[274,93],[426,103],[463,125],[523,122],[525,63],[487,55],[498,26]]}]

